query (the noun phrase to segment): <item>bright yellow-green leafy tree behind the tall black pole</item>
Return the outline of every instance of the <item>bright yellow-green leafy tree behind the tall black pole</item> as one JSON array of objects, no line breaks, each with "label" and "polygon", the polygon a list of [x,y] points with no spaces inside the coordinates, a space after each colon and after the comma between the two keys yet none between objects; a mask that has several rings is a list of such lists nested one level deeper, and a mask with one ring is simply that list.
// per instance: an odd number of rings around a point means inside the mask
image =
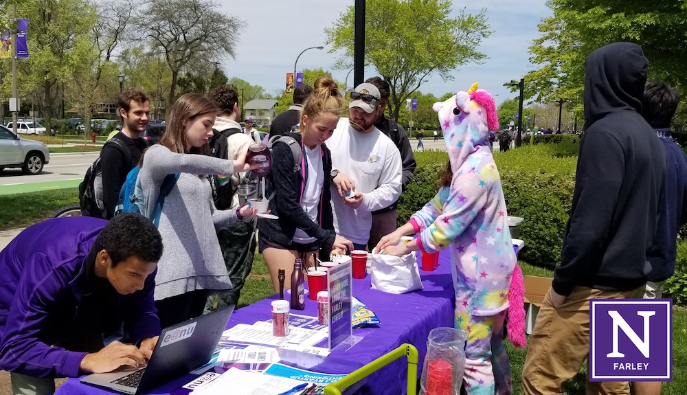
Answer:
[{"label": "bright yellow-green leafy tree behind the tall black pole", "polygon": [[[450,0],[367,0],[365,7],[365,63],[391,86],[390,106],[394,117],[405,108],[405,99],[423,80],[438,73],[453,80],[458,66],[486,56],[477,45],[491,35],[484,10],[468,14],[460,10],[451,18]],[[343,50],[335,67],[352,67],[354,6],[341,14],[333,27],[325,29],[330,52]]]}]

